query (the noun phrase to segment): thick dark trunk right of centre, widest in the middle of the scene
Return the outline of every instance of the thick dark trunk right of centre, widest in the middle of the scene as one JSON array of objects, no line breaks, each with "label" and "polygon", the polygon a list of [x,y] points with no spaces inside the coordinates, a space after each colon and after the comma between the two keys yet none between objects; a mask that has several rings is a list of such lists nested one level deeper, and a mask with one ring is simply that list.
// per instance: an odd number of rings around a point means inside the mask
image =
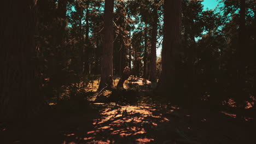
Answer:
[{"label": "thick dark trunk right of centre, widest in the middle of the scene", "polygon": [[164,40],[162,45],[162,74],[157,91],[170,92],[174,87],[175,53],[180,47],[181,0],[164,1]]}]

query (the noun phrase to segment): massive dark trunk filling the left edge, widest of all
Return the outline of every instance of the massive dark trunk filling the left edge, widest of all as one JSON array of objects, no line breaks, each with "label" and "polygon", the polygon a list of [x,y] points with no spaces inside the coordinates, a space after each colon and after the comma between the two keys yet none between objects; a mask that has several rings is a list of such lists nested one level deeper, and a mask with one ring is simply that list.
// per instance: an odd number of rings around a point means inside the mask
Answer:
[{"label": "massive dark trunk filling the left edge, widest of all", "polygon": [[[4,1],[0,49],[0,119],[28,117],[43,104],[39,93],[36,1]],[[21,13],[22,11],[22,13]]]}]

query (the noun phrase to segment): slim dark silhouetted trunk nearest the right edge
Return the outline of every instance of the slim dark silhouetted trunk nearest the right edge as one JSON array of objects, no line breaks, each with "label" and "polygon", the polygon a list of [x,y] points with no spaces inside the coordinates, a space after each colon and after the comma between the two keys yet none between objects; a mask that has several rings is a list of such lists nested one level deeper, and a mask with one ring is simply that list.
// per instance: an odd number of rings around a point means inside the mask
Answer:
[{"label": "slim dark silhouetted trunk nearest the right edge", "polygon": [[236,53],[236,62],[237,62],[237,73],[236,73],[236,103],[237,103],[237,118],[241,118],[242,109],[244,109],[245,104],[243,99],[246,94],[243,91],[245,88],[245,47],[246,47],[246,27],[245,27],[245,0],[240,0],[240,26],[239,26],[239,42],[238,42],[238,50]]}]

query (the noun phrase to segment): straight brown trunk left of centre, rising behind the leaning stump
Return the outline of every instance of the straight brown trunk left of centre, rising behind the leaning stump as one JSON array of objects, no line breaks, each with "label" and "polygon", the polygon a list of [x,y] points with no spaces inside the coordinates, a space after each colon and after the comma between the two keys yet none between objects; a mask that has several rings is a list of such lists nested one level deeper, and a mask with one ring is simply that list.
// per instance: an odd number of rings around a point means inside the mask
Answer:
[{"label": "straight brown trunk left of centre, rising behind the leaning stump", "polygon": [[101,61],[101,82],[98,90],[109,83],[109,75],[113,75],[113,9],[114,0],[105,1],[104,9],[104,45]]}]

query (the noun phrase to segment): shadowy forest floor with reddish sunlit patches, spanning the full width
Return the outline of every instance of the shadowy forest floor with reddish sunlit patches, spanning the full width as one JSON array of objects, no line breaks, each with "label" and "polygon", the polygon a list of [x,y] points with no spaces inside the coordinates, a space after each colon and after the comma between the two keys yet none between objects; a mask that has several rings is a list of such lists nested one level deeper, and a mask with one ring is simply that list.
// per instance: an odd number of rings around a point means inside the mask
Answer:
[{"label": "shadowy forest floor with reddish sunlit patches, spanning the full width", "polygon": [[92,97],[86,110],[60,115],[53,109],[26,122],[0,123],[0,143],[255,143],[253,118],[157,104],[145,94],[152,83],[133,77],[125,88],[131,85],[139,89],[135,104]]}]

